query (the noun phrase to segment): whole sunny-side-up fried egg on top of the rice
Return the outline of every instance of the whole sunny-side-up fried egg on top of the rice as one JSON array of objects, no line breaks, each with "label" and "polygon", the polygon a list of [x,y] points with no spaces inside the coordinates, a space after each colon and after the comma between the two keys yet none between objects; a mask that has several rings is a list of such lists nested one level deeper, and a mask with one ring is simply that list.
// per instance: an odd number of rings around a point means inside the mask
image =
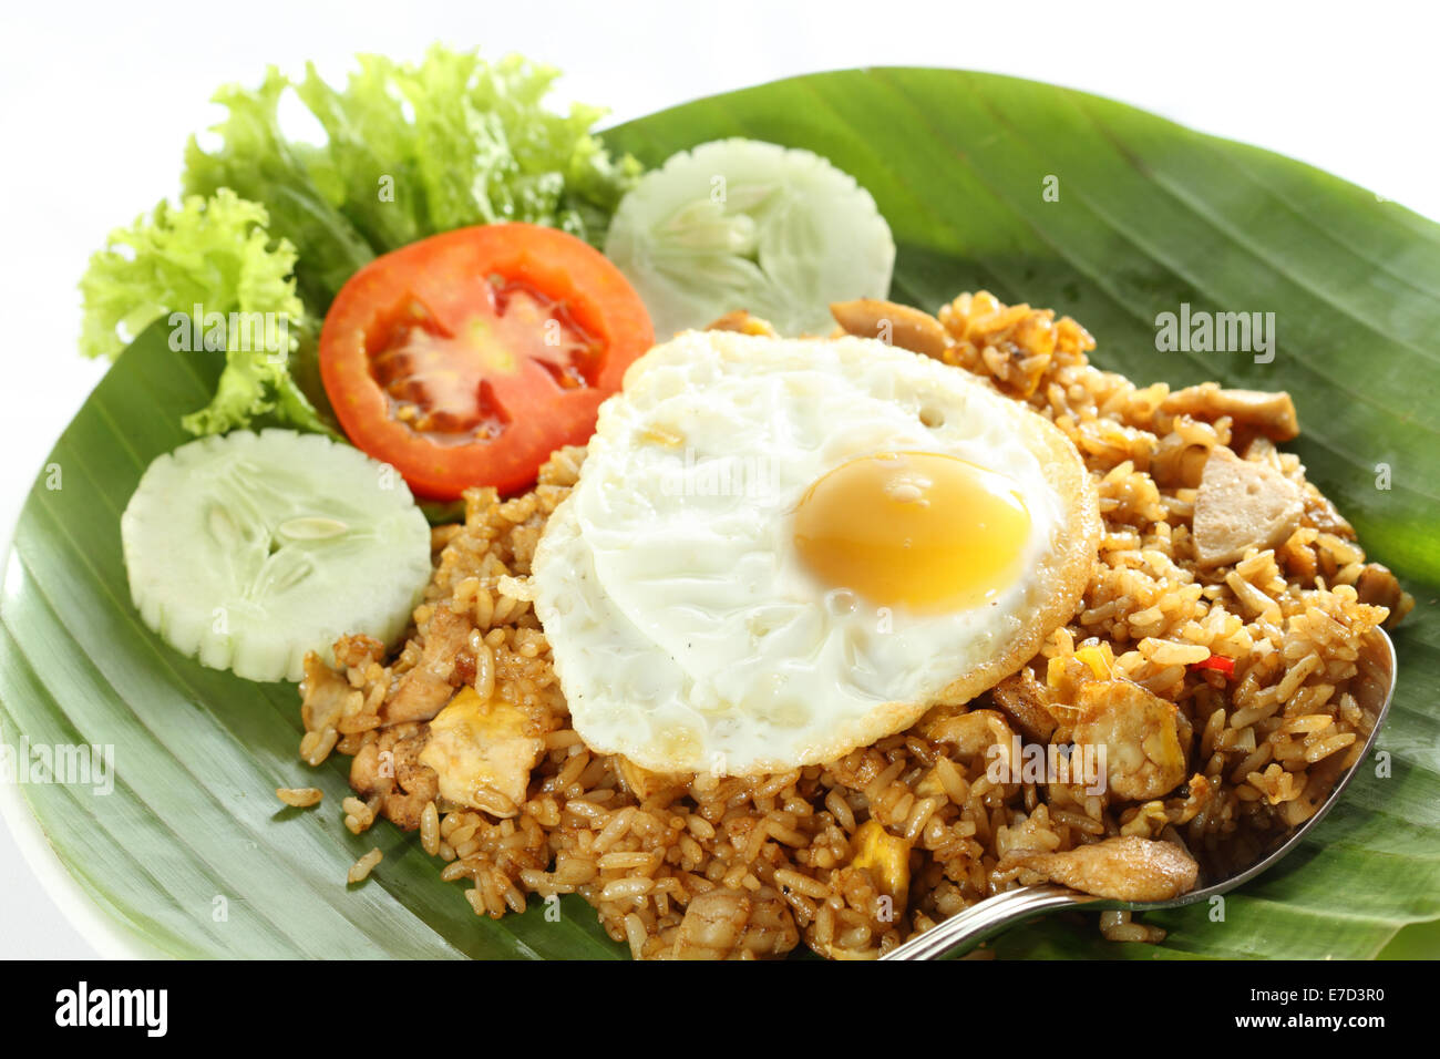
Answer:
[{"label": "whole sunny-side-up fried egg on top of the rice", "polygon": [[687,331],[600,408],[531,591],[593,751],[755,775],[1018,670],[1074,612],[1099,533],[1074,445],[962,369]]}]

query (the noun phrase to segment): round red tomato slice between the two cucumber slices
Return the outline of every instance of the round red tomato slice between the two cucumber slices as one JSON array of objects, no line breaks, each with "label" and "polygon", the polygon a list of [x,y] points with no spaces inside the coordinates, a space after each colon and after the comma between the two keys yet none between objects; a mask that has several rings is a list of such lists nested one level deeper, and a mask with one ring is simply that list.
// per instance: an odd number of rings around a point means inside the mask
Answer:
[{"label": "round red tomato slice between the two cucumber slices", "polygon": [[553,228],[461,228],[356,272],[320,334],[320,375],[360,450],[454,500],[534,481],[583,444],[654,343],[619,269]]}]

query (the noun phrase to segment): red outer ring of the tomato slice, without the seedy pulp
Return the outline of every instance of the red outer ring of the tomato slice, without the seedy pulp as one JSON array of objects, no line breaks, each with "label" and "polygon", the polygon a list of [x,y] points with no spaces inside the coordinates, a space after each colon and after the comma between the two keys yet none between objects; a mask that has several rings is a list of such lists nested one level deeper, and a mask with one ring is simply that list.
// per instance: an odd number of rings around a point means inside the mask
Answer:
[{"label": "red outer ring of the tomato slice, without the seedy pulp", "polygon": [[[370,363],[384,320],[399,305],[419,304],[444,329],[444,340],[459,344],[451,336],[462,334],[497,275],[563,301],[602,350],[589,385],[563,389],[536,362],[518,357],[487,380],[504,399],[498,437],[442,441],[400,422]],[[320,375],[357,448],[392,464],[418,496],[454,500],[471,486],[521,490],[556,448],[585,444],[600,402],[652,343],[639,295],[592,246],[553,228],[481,225],[402,246],[356,272],[325,314]]]}]

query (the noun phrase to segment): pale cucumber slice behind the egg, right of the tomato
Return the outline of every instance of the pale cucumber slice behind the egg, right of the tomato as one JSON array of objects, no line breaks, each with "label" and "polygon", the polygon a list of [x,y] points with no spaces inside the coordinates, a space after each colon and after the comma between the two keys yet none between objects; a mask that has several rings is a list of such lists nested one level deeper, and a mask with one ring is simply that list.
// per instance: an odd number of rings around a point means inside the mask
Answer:
[{"label": "pale cucumber slice behind the egg, right of the tomato", "polygon": [[829,303],[888,295],[896,245],[870,192],[818,154],[716,140],[641,179],[605,255],[664,341],[737,308],[782,334],[828,334]]}]

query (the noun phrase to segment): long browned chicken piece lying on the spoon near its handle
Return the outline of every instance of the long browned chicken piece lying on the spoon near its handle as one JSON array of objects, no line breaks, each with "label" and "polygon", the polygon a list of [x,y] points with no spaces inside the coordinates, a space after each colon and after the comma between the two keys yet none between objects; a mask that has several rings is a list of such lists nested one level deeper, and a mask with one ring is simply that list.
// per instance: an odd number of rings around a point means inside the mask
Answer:
[{"label": "long browned chicken piece lying on the spoon near its handle", "polygon": [[1172,901],[1188,893],[1200,864],[1171,841],[1122,834],[1064,853],[1015,853],[1001,867],[1027,867],[1050,882],[1113,901]]}]

